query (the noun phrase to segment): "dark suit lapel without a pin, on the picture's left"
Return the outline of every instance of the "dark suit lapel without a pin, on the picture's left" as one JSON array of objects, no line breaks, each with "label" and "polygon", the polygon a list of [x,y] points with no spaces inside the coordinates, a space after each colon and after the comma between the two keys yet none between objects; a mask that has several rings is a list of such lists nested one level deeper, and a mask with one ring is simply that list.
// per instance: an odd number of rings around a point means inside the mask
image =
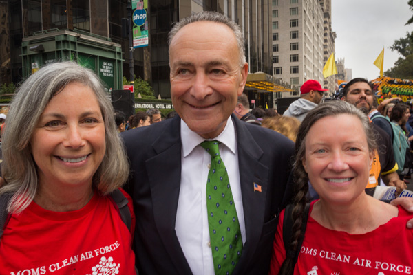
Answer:
[{"label": "dark suit lapel without a pin, on the picture's left", "polygon": [[179,274],[191,274],[175,231],[181,177],[180,119],[153,143],[156,155],[145,162],[151,186],[153,217],[160,238]]}]

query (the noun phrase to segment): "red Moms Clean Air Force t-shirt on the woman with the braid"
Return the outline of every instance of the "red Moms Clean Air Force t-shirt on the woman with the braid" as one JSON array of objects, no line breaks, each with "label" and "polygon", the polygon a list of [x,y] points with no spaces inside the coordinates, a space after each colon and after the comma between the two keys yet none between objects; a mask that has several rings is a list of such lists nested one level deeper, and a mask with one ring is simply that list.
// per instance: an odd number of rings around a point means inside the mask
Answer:
[{"label": "red Moms Clean Air Force t-shirt on the woman with the braid", "polygon": [[[313,208],[311,203],[310,212]],[[399,216],[366,234],[348,234],[321,226],[310,216],[294,274],[412,274],[412,214],[399,206]],[[275,233],[270,274],[278,274],[286,251],[282,239],[284,210]]]}]

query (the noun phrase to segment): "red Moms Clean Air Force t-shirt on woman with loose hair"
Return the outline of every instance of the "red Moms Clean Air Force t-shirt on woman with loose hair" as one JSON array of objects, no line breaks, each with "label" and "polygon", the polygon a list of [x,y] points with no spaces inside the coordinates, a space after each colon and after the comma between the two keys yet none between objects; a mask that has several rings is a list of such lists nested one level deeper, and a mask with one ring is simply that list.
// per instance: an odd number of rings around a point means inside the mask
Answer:
[{"label": "red Moms Clean Air Force t-shirt on woman with loose hair", "polygon": [[136,274],[131,241],[114,203],[98,192],[71,212],[32,201],[11,215],[1,236],[0,274]]}]

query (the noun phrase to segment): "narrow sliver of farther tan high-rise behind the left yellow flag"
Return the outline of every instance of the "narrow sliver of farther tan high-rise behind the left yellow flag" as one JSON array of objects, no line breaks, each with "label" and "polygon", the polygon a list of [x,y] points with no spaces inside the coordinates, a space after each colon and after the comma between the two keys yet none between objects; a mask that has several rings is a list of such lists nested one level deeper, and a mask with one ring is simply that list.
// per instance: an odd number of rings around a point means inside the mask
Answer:
[{"label": "narrow sliver of farther tan high-rise behind the left yellow flag", "polygon": [[[331,0],[319,0],[319,2],[323,10],[324,17],[323,63],[326,64],[330,55],[332,53],[335,53],[336,33],[333,32],[331,28]],[[336,83],[336,75],[324,78],[324,89],[328,89],[329,96],[332,96],[332,94],[334,94]]]}]

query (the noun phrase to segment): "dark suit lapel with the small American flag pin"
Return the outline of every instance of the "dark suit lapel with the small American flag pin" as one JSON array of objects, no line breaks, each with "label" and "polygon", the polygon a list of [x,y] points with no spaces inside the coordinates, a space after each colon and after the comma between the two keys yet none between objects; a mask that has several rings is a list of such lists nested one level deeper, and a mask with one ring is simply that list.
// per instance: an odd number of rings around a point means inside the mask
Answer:
[{"label": "dark suit lapel with the small American flag pin", "polygon": [[[262,234],[262,226],[259,225],[264,223],[268,167],[260,162],[264,152],[244,125],[245,122],[240,122],[236,118],[233,120],[237,131],[238,162],[246,230],[246,242],[234,274],[242,274],[243,266],[248,265],[249,259],[253,258]],[[261,192],[254,190],[254,184],[261,187]]]}]

